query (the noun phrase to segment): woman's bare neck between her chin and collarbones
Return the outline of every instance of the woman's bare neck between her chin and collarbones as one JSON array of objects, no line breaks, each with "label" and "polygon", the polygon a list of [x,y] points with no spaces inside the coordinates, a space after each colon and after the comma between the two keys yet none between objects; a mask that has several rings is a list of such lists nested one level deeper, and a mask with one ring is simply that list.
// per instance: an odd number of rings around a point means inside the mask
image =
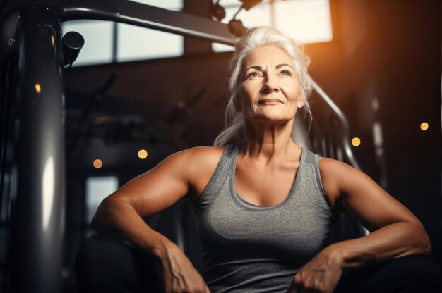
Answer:
[{"label": "woman's bare neck between her chin and collarbones", "polygon": [[248,123],[239,153],[265,163],[299,157],[301,148],[292,140],[290,123]]}]

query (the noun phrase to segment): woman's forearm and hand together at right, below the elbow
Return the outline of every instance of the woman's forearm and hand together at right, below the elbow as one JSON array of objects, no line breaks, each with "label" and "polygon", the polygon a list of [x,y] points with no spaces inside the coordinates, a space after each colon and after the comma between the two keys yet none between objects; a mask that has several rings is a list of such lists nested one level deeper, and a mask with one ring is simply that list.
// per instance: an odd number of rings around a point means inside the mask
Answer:
[{"label": "woman's forearm and hand together at right, below the elbow", "polygon": [[419,220],[385,225],[370,235],[325,247],[294,275],[287,292],[333,292],[346,268],[411,254],[431,254],[428,235]]}]

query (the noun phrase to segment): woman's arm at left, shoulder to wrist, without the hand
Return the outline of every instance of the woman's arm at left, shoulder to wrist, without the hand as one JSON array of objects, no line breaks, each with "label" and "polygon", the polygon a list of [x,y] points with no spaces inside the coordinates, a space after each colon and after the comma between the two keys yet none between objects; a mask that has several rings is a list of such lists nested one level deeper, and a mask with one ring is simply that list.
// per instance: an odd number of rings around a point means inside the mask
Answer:
[{"label": "woman's arm at left, shoulder to wrist, without the hand", "polygon": [[172,206],[186,194],[189,178],[185,166],[191,156],[190,150],[169,156],[109,195],[92,218],[92,227],[155,252],[167,239],[150,229],[143,218]]}]

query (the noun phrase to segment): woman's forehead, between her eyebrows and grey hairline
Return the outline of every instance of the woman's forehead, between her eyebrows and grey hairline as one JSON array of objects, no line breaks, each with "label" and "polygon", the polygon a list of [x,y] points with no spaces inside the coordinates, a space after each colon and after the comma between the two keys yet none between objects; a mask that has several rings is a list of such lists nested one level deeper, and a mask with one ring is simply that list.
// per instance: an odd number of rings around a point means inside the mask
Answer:
[{"label": "woman's forehead, between her eyebrows and grey hairline", "polygon": [[249,66],[272,66],[277,64],[287,63],[294,67],[294,61],[289,54],[277,46],[261,46],[257,49],[253,49],[247,54],[244,60],[245,68]]}]

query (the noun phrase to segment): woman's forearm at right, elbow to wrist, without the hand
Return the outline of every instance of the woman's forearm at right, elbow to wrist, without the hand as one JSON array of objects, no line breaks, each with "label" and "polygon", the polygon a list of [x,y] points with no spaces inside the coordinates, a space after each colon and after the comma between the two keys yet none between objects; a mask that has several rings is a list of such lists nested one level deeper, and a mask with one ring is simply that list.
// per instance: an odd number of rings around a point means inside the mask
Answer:
[{"label": "woman's forearm at right, elbow to wrist, without the hand", "polygon": [[364,237],[331,244],[324,252],[342,268],[354,268],[411,254],[431,254],[431,243],[420,223],[398,222]]}]

